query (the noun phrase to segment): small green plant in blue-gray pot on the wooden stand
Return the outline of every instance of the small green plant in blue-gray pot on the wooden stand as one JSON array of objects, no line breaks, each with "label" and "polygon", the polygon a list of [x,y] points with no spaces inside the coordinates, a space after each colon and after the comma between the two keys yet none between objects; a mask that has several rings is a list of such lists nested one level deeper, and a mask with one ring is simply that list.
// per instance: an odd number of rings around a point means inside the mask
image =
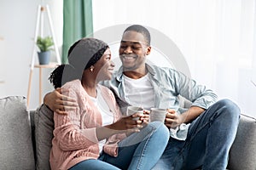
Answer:
[{"label": "small green plant in blue-gray pot on the wooden stand", "polygon": [[52,37],[38,37],[37,45],[39,48],[38,60],[39,65],[48,65],[50,59],[50,50],[54,42]]}]

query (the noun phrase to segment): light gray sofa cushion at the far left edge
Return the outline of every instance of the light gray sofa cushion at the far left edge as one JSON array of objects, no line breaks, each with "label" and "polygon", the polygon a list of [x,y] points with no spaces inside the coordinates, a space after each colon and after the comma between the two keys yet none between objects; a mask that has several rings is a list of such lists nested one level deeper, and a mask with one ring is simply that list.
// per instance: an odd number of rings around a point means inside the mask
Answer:
[{"label": "light gray sofa cushion at the far left edge", "polygon": [[26,98],[0,99],[0,169],[35,169]]}]

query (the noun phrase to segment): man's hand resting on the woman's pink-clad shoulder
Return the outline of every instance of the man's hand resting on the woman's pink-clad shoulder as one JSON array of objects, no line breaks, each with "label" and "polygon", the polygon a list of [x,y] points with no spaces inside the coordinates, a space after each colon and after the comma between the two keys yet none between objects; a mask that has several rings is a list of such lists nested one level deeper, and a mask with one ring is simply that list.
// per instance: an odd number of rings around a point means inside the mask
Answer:
[{"label": "man's hand resting on the woman's pink-clad shoulder", "polygon": [[67,114],[68,110],[75,109],[78,104],[76,99],[70,98],[63,93],[61,88],[56,88],[53,92],[44,96],[44,105],[47,105],[51,111],[58,114]]}]

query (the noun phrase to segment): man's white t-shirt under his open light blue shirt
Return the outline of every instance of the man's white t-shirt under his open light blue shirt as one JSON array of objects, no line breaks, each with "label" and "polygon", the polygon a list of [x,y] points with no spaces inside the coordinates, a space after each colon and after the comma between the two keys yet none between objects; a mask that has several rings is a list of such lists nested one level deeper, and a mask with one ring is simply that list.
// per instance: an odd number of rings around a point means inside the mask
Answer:
[{"label": "man's white t-shirt under his open light blue shirt", "polygon": [[[148,74],[139,79],[125,77],[125,97],[131,105],[149,110],[154,107],[154,88]],[[139,94],[139,95],[138,95]],[[138,97],[139,96],[139,97]]]}]

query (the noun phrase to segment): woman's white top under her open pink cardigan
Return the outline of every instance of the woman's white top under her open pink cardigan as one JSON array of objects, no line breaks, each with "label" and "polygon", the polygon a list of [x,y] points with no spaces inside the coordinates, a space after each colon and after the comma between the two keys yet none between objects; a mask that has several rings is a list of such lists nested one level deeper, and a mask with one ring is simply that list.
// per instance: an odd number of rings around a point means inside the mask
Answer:
[{"label": "woman's white top under her open pink cardigan", "polygon": [[[113,113],[110,111],[108,104],[100,92],[100,88],[97,88],[96,98],[90,97],[93,103],[96,105],[102,115],[102,126],[106,126],[113,123]],[[103,146],[106,143],[106,139],[99,141],[100,153],[102,152]]]}]

